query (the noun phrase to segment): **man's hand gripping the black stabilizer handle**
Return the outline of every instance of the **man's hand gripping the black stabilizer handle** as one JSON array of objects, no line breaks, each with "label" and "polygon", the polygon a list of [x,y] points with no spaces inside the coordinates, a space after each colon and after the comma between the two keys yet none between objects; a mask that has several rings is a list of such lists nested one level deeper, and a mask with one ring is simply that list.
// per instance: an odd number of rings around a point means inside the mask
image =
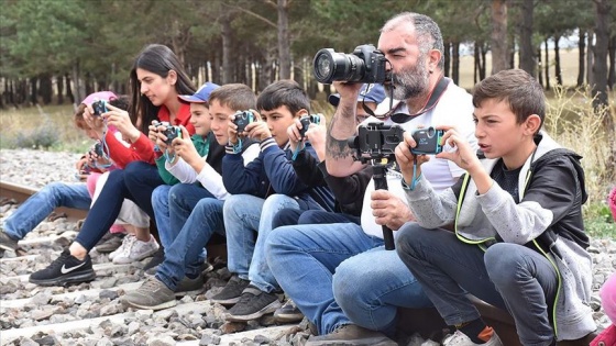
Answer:
[{"label": "man's hand gripping the black stabilizer handle", "polygon": [[402,199],[387,190],[376,190],[371,194],[372,214],[378,225],[386,225],[392,231],[399,230],[405,223],[415,221],[410,209]]}]

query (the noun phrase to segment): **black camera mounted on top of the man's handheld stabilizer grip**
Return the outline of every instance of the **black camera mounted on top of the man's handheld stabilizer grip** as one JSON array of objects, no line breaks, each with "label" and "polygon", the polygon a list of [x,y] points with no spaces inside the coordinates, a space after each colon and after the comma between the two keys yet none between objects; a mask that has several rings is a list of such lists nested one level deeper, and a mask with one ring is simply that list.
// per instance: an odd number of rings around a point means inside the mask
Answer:
[{"label": "black camera mounted on top of the man's handheld stabilizer grip", "polygon": [[359,134],[348,139],[349,147],[358,150],[358,160],[395,159],[396,146],[404,141],[404,129],[398,125],[369,123],[359,126]]}]

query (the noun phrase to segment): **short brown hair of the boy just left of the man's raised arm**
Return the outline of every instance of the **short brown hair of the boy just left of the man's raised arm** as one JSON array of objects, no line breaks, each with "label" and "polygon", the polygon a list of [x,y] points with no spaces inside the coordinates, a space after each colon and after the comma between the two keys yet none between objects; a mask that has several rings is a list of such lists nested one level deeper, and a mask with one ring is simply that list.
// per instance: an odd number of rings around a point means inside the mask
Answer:
[{"label": "short brown hair of the boy just left of the man's raised arm", "polygon": [[283,105],[293,115],[302,109],[310,112],[310,98],[295,80],[286,79],[271,83],[256,99],[257,111],[272,111]]}]

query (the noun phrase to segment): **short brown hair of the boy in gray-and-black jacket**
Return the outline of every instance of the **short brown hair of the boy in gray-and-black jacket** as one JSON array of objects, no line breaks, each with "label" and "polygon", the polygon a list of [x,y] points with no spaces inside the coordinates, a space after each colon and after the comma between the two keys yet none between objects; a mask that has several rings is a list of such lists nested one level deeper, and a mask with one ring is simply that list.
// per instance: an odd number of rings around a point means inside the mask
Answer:
[{"label": "short brown hair of the boy in gray-and-black jacket", "polygon": [[473,105],[481,108],[486,100],[505,101],[521,124],[532,114],[541,124],[546,116],[546,96],[541,85],[522,69],[506,69],[480,81],[473,88]]}]

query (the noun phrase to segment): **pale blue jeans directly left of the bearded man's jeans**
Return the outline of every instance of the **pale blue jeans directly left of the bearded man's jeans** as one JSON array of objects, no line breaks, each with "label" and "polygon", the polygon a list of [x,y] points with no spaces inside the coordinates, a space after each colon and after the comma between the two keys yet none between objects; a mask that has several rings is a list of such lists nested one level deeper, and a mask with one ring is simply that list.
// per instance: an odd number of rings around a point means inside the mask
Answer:
[{"label": "pale blue jeans directly left of the bearded man's jeans", "polygon": [[274,216],[282,209],[299,209],[299,204],[285,194],[272,194],[266,200],[235,194],[224,202],[229,271],[268,293],[279,287],[267,266],[265,241],[272,232]]}]

